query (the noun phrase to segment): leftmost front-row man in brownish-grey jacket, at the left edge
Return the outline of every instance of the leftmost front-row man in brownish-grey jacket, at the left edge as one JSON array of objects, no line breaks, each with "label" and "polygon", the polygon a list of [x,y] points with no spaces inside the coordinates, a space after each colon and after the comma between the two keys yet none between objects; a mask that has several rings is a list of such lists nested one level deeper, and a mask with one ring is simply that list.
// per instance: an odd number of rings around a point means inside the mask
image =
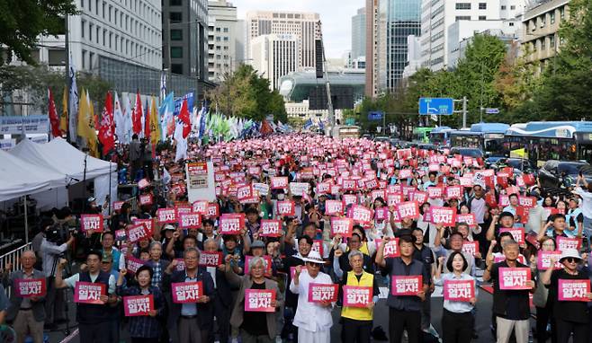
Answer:
[{"label": "leftmost front-row man in brownish-grey jacket, at the left edge", "polygon": [[[35,252],[24,251],[21,255],[21,270],[4,275],[4,286],[11,286],[10,307],[6,321],[13,322],[17,343],[23,343],[27,336],[31,336],[34,343],[43,342],[43,321],[45,321],[45,295],[29,297],[16,295],[16,280],[45,279],[43,272],[33,268],[36,258]],[[10,269],[12,266],[6,266]]]}]

